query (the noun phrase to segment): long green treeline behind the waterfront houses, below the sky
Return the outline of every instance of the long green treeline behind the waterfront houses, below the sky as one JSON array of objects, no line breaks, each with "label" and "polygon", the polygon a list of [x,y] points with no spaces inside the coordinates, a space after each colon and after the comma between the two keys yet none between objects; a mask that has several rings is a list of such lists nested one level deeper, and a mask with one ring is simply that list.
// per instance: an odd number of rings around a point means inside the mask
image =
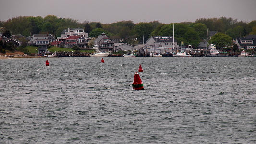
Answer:
[{"label": "long green treeline behind the waterfront houses, below the sky", "polygon": [[[158,21],[141,22],[134,24],[133,21],[121,21],[112,24],[101,24],[100,22],[84,21],[71,18],[58,18],[54,15],[46,17],[18,16],[8,21],[0,21],[0,32],[9,30],[12,35],[21,34],[53,34],[61,36],[61,32],[67,28],[84,28],[89,37],[97,37],[102,32],[111,39],[122,39],[129,44],[143,43],[150,36],[172,36],[173,24],[163,24]],[[200,18],[195,22],[181,22],[174,25],[175,38],[184,45],[192,44],[196,47],[202,39],[207,39],[207,31],[217,31],[230,36],[232,39],[243,37],[248,34],[256,34],[256,21],[243,22],[237,19],[221,18]]]}]

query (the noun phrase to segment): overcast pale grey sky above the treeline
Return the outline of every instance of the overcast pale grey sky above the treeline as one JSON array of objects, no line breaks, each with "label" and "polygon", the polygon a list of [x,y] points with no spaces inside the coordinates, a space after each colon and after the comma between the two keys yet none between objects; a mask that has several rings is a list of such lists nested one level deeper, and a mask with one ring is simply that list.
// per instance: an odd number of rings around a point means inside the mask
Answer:
[{"label": "overcast pale grey sky above the treeline", "polygon": [[0,0],[0,21],[55,15],[79,22],[180,23],[199,18],[256,20],[256,0]]}]

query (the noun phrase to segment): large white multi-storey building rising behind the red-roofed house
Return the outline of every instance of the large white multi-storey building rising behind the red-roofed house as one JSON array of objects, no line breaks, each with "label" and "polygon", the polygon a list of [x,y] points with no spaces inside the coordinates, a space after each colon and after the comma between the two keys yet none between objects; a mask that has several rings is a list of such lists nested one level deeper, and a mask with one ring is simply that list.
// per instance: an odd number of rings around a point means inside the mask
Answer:
[{"label": "large white multi-storey building rising behind the red-roofed house", "polygon": [[66,42],[66,39],[70,36],[83,36],[85,38],[88,37],[88,33],[84,32],[84,29],[82,28],[68,28],[61,32],[61,37],[57,37],[57,41],[64,41]]}]

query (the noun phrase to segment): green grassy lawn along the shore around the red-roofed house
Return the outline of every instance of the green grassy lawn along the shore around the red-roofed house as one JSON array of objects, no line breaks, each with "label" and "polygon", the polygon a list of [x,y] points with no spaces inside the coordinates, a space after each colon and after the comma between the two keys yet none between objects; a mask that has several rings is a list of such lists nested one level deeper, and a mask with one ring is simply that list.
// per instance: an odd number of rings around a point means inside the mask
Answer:
[{"label": "green grassy lawn along the shore around the red-roofed house", "polygon": [[[33,47],[33,46],[27,46],[27,49],[30,51],[30,53],[38,53],[38,48],[37,47]],[[51,48],[49,48],[49,49],[47,49],[47,50],[49,50],[49,51],[51,51],[51,52],[60,52],[60,51],[75,51],[75,50],[73,50],[73,49],[71,49],[71,48],[59,48],[59,47],[51,47]],[[93,52],[94,50],[88,50],[88,49],[86,49],[86,50],[79,50],[80,52],[87,52],[87,53],[91,53],[91,52]]]}]

